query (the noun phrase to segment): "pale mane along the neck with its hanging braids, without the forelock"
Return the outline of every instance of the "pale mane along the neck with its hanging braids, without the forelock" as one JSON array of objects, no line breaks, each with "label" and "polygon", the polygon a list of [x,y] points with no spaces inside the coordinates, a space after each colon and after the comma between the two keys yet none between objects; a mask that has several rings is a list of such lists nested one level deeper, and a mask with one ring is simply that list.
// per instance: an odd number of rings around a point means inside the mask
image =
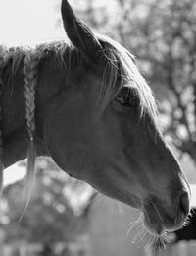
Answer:
[{"label": "pale mane along the neck with its hanging braids, without the forelock", "polygon": [[[65,59],[70,59],[71,47],[65,42],[51,42],[38,45],[35,48],[29,47],[12,47],[7,48],[0,45],[0,99],[2,95],[2,73],[4,68],[8,65],[9,61],[12,60],[10,66],[9,78],[14,82],[16,71],[19,66],[23,63],[23,74],[25,84],[25,118],[26,118],[26,129],[28,134],[28,149],[27,149],[27,164],[26,164],[26,192],[27,202],[33,185],[35,176],[35,158],[36,151],[34,145],[35,135],[35,89],[37,85],[38,66],[40,61],[46,57],[50,52],[54,52],[58,62],[67,66],[69,69],[69,63],[65,64]],[[67,55],[67,56],[65,56]],[[2,108],[0,100],[0,190],[3,188],[3,162],[2,162],[2,151],[3,151],[3,140],[2,140]]]}]

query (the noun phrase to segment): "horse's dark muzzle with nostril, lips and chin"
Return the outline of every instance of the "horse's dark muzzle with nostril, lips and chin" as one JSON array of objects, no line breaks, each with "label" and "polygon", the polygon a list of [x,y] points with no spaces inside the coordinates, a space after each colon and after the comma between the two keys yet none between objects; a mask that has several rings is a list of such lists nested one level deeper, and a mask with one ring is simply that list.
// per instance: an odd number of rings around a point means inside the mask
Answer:
[{"label": "horse's dark muzzle with nostril, lips and chin", "polygon": [[161,236],[166,231],[182,227],[189,211],[190,196],[186,191],[180,192],[171,205],[156,196],[150,196],[143,204],[144,225],[152,235]]}]

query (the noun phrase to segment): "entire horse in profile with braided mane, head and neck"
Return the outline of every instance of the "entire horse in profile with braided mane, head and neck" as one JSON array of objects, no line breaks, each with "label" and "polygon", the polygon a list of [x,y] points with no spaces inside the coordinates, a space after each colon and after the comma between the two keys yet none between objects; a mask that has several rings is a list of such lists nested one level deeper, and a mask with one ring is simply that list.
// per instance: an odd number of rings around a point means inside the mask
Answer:
[{"label": "entire horse in profile with braided mane, head and neck", "polygon": [[164,244],[188,217],[190,189],[160,132],[155,97],[123,45],[92,32],[67,0],[61,14],[70,42],[1,46],[1,179],[27,152],[30,187],[35,156],[49,156],[139,209],[144,236]]}]

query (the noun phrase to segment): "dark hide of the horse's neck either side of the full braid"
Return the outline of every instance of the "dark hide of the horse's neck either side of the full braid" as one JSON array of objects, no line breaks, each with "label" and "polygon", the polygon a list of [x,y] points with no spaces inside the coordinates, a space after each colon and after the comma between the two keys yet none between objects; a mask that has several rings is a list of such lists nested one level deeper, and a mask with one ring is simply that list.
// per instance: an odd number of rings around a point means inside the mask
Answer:
[{"label": "dark hide of the horse's neck either side of the full braid", "polygon": [[[39,78],[37,80],[36,108],[35,108],[35,147],[37,155],[48,155],[43,140],[44,116],[47,107],[57,94],[58,85],[62,79],[62,70],[54,61],[44,61],[38,65]],[[3,109],[1,124],[3,138],[3,164],[8,167],[19,160],[26,158],[28,134],[25,118],[25,76],[24,62],[22,61],[11,78],[10,68],[2,73],[3,88],[0,104]]]}]

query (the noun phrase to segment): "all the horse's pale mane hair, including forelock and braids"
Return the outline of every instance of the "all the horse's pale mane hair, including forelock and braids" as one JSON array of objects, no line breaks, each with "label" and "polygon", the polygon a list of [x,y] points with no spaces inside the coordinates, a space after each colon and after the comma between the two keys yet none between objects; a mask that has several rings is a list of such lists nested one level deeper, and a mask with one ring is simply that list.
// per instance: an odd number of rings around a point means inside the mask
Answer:
[{"label": "all the horse's pale mane hair, including forelock and braids", "polygon": [[[101,115],[107,105],[120,92],[123,86],[136,87],[140,99],[140,116],[144,116],[148,112],[152,120],[156,123],[157,107],[154,96],[148,87],[146,81],[139,73],[134,64],[134,57],[122,45],[110,39],[107,36],[98,35],[98,39],[103,46],[103,61],[105,61],[105,70],[100,86],[100,96],[98,99],[98,115]],[[35,177],[35,91],[37,85],[39,63],[48,56],[54,54],[55,60],[69,72],[73,71],[72,63],[81,63],[81,54],[72,45],[65,41],[55,41],[43,43],[34,48],[29,47],[13,47],[7,48],[0,46],[0,93],[2,91],[2,72],[5,67],[9,66],[10,72],[7,79],[15,78],[16,72],[20,65],[24,67],[25,79],[25,112],[26,127],[28,133],[28,150],[27,150],[27,174],[26,189],[27,201],[29,202],[33,180]],[[101,61],[102,61],[101,60]],[[1,94],[0,94],[1,95]],[[0,107],[1,109],[1,107]],[[1,120],[1,112],[0,112]],[[2,131],[0,126],[0,182],[3,178],[2,163]],[[2,184],[0,185],[2,188]],[[25,208],[26,208],[25,207]]]}]

